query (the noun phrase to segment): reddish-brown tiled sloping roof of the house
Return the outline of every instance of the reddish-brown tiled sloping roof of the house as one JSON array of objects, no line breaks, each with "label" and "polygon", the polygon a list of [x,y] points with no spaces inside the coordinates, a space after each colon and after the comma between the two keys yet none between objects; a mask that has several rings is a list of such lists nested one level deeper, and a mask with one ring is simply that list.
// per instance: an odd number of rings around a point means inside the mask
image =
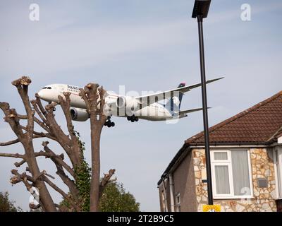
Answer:
[{"label": "reddish-brown tiled sloping roof of the house", "polygon": [[[282,91],[209,128],[210,143],[267,143],[282,130]],[[204,143],[204,133],[185,143]]]}]

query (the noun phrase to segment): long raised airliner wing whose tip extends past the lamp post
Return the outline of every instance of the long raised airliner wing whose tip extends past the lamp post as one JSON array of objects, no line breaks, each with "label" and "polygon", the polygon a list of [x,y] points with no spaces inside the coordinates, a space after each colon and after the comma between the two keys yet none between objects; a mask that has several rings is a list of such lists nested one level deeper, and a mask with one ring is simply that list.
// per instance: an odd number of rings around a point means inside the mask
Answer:
[{"label": "long raised airliner wing whose tip extends past the lamp post", "polygon": [[[209,81],[206,82],[206,84],[213,83],[213,82],[218,81],[222,78],[215,78],[215,79],[209,80]],[[197,83],[197,84],[194,84],[194,85],[183,86],[183,87],[176,88],[176,89],[173,89],[173,90],[167,90],[167,91],[162,92],[162,93],[154,93],[154,94],[150,94],[150,95],[135,97],[135,99],[140,104],[140,109],[141,109],[143,107],[151,105],[154,102],[159,102],[161,100],[165,100],[165,99],[168,99],[168,98],[173,97],[175,95],[178,95],[178,93],[186,93],[186,92],[188,92],[188,91],[190,91],[194,88],[200,87],[201,85],[202,85],[201,83]]]}]

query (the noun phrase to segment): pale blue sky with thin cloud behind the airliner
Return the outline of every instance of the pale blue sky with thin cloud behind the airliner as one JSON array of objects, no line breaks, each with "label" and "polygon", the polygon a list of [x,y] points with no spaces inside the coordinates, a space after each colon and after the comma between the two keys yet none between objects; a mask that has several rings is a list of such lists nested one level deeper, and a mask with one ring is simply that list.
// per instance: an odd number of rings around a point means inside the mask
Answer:
[{"label": "pale blue sky with thin cloud behind the airliner", "polygon": [[[40,7],[38,22],[29,20],[32,3]],[[240,19],[240,6],[245,3],[251,6],[251,21]],[[21,75],[32,78],[30,97],[49,83],[95,82],[115,92],[119,85],[125,85],[126,92],[141,92],[200,82],[193,4],[188,0],[1,0],[0,101],[23,113],[11,85]],[[225,78],[208,85],[210,126],[281,90],[281,11],[278,0],[212,1],[204,21],[207,78]],[[199,88],[185,95],[182,109],[201,105]],[[63,119],[59,110],[56,116]],[[102,172],[115,168],[118,181],[135,195],[141,210],[159,211],[157,181],[185,139],[202,131],[201,112],[178,124],[114,121],[114,129],[102,131]],[[87,143],[85,155],[90,160],[89,121],[75,122],[75,128]],[[14,137],[4,121],[0,135],[0,141]],[[40,142],[35,145],[40,150]],[[61,153],[57,145],[51,147]],[[21,153],[23,148],[14,145],[0,151]],[[13,162],[0,159],[0,191],[9,191],[27,210],[30,194],[22,185],[12,187],[8,182]],[[51,162],[42,159],[39,164],[56,175]]]}]

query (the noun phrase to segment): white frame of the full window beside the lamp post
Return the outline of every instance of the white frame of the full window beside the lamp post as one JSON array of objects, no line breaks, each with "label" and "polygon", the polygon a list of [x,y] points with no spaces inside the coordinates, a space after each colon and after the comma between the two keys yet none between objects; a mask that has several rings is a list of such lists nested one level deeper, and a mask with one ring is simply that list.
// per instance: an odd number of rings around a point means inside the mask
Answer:
[{"label": "white frame of the full window beside the lamp post", "polygon": [[[250,160],[250,150],[247,150],[247,162],[249,168],[249,179],[250,179],[250,195],[235,196],[234,194],[234,182],[233,182],[233,169],[232,169],[232,159],[231,151],[232,150],[212,150],[211,151],[211,165],[212,165],[212,187],[213,187],[213,196],[214,199],[238,199],[238,198],[254,198],[253,186],[252,186],[252,165]],[[214,160],[214,153],[227,153],[227,160]],[[228,177],[229,177],[229,189],[230,194],[217,194],[216,193],[216,166],[227,166],[228,167]]]}]

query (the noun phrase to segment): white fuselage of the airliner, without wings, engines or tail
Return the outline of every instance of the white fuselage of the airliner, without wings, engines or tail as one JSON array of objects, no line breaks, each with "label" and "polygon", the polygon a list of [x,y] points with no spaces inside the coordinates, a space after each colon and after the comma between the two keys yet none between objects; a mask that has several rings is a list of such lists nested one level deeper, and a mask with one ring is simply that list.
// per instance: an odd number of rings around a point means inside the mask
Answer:
[{"label": "white fuselage of the airliner, without wings, engines or tail", "polygon": [[[39,91],[38,95],[42,100],[47,102],[59,102],[58,96],[63,96],[63,92],[71,93],[71,107],[78,109],[86,109],[86,105],[82,97],[80,97],[80,87],[75,85],[65,85],[65,84],[53,84],[47,85]],[[105,104],[107,106],[112,106],[116,103],[116,100],[120,97],[120,95],[114,95],[111,93],[107,93],[105,97]],[[120,112],[116,110],[116,108],[109,107],[109,115],[114,115],[116,117],[127,117],[130,116],[126,113],[126,111]],[[173,114],[164,107],[164,105],[155,102],[147,107],[143,107],[142,109],[137,109],[133,112],[135,117],[140,119],[146,119],[149,121],[163,121],[167,119],[173,119]]]}]

